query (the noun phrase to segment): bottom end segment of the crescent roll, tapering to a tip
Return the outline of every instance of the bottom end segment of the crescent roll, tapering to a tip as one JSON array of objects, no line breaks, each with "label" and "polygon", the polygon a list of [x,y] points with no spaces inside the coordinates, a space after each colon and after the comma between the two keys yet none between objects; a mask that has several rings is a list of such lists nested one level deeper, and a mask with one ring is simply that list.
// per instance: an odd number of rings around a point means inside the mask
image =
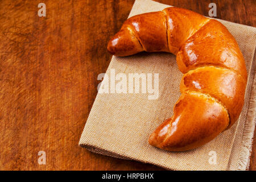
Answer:
[{"label": "bottom end segment of the crescent roll, tapering to a tip", "polygon": [[191,150],[215,138],[228,125],[228,111],[214,98],[186,92],[177,101],[174,116],[151,134],[149,143],[164,150]]}]

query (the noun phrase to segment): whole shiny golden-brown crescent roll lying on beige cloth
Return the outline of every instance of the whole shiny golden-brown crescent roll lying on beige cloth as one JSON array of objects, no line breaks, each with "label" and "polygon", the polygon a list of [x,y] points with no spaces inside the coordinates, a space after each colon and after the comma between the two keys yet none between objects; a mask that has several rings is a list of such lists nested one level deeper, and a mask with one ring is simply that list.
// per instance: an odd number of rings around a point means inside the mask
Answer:
[{"label": "whole shiny golden-brown crescent roll lying on beige cloth", "polygon": [[176,55],[184,73],[174,115],[148,142],[168,151],[202,146],[238,119],[245,96],[245,60],[234,37],[214,19],[168,7],[133,16],[108,43],[108,51],[128,56],[141,51]]}]

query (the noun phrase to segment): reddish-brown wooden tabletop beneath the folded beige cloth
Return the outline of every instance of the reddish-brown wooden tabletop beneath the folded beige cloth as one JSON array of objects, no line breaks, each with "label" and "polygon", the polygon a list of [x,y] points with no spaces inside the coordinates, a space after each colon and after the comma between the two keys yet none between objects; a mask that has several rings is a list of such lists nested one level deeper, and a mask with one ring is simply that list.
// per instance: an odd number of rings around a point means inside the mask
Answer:
[{"label": "reddish-brown wooden tabletop beneath the folded beige cloth", "polygon": [[[38,16],[40,2],[46,17]],[[78,146],[97,76],[110,62],[106,44],[133,2],[0,1],[0,169],[162,169]],[[256,25],[254,0],[159,2],[203,15],[215,2],[217,18]],[[38,164],[39,151],[46,151],[46,165]],[[256,170],[255,136],[250,169]]]}]

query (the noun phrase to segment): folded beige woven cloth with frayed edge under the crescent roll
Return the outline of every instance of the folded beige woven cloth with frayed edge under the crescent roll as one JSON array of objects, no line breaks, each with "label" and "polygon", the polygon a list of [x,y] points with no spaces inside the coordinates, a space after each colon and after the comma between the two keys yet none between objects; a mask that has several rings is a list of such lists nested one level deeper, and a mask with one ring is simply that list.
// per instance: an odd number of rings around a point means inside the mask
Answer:
[{"label": "folded beige woven cloth with frayed edge under the crescent roll", "polygon": [[[137,0],[130,16],[168,7],[158,2]],[[245,105],[234,126],[195,150],[170,152],[148,144],[152,131],[172,116],[180,96],[182,73],[171,53],[138,53],[113,56],[110,69],[115,75],[159,73],[159,97],[148,93],[98,93],[80,139],[87,150],[115,158],[137,160],[174,170],[245,170],[249,166],[255,126],[255,42],[256,28],[220,20],[236,38],[246,61],[248,83]],[[106,77],[105,77],[106,78]],[[104,81],[107,80],[107,78]],[[154,80],[153,87],[154,87]],[[213,159],[216,156],[216,161]]]}]

